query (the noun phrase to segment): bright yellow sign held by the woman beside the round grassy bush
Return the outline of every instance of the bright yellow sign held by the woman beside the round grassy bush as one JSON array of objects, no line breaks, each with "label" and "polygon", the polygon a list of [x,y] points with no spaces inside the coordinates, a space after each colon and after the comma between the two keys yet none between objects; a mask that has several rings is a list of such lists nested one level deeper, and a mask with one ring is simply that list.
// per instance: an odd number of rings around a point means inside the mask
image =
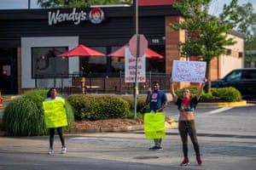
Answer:
[{"label": "bright yellow sign held by the woman beside the round grassy bush", "polygon": [[53,99],[43,102],[46,127],[67,126],[67,114],[64,105],[64,99]]}]

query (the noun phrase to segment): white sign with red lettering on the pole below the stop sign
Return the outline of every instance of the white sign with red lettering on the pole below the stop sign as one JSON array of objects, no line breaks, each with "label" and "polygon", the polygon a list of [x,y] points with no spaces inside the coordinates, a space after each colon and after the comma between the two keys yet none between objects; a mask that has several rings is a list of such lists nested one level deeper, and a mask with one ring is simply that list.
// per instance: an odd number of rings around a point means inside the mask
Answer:
[{"label": "white sign with red lettering on the pole below the stop sign", "polygon": [[[131,55],[129,48],[125,48],[125,82],[135,82],[136,57]],[[145,54],[137,59],[137,82],[146,82]]]}]

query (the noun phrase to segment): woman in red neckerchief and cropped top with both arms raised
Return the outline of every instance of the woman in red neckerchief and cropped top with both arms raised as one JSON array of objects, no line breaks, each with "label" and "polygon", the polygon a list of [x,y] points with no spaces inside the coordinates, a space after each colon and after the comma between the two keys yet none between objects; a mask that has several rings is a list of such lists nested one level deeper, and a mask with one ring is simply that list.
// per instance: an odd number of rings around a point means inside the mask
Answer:
[{"label": "woman in red neckerchief and cropped top with both arms raised", "polygon": [[[201,93],[204,88],[204,83],[200,84],[199,90],[194,98],[190,99],[189,88],[184,88],[183,90],[183,98],[178,98],[177,94],[174,91],[172,78],[171,82],[171,94],[172,99],[177,105],[177,109],[180,111],[179,120],[178,120],[178,131],[180,133],[182,142],[183,142],[183,156],[184,159],[181,162],[181,166],[186,166],[189,164],[189,156],[188,156],[188,135],[193,143],[196,161],[198,165],[201,166],[201,155],[200,148],[197,140],[196,130],[195,130],[195,107],[198,104],[198,101],[201,97]],[[207,78],[204,79],[203,82],[207,82]]]}]

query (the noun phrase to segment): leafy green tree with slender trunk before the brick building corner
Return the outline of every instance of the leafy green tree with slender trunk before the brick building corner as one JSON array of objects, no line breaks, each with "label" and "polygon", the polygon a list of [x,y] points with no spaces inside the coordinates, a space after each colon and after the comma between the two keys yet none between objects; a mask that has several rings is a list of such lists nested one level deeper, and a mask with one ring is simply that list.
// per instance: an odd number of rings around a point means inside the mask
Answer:
[{"label": "leafy green tree with slender trunk before the brick building corner", "polygon": [[183,14],[185,20],[182,23],[170,24],[175,31],[188,32],[186,41],[178,43],[180,54],[200,57],[207,62],[207,93],[211,92],[210,62],[220,54],[230,53],[225,46],[234,45],[236,42],[228,38],[228,35],[241,20],[235,13],[237,0],[232,0],[229,5],[224,4],[219,18],[209,15],[211,2],[212,0],[177,0],[173,6]]}]

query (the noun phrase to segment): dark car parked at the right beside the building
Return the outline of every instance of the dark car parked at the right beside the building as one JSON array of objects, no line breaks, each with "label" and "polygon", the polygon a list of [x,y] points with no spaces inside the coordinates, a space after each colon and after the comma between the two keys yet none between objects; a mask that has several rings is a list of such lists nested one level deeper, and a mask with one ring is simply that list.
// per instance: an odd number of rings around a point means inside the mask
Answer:
[{"label": "dark car parked at the right beside the building", "polygon": [[211,83],[212,88],[236,88],[242,99],[256,99],[256,68],[236,69]]}]

